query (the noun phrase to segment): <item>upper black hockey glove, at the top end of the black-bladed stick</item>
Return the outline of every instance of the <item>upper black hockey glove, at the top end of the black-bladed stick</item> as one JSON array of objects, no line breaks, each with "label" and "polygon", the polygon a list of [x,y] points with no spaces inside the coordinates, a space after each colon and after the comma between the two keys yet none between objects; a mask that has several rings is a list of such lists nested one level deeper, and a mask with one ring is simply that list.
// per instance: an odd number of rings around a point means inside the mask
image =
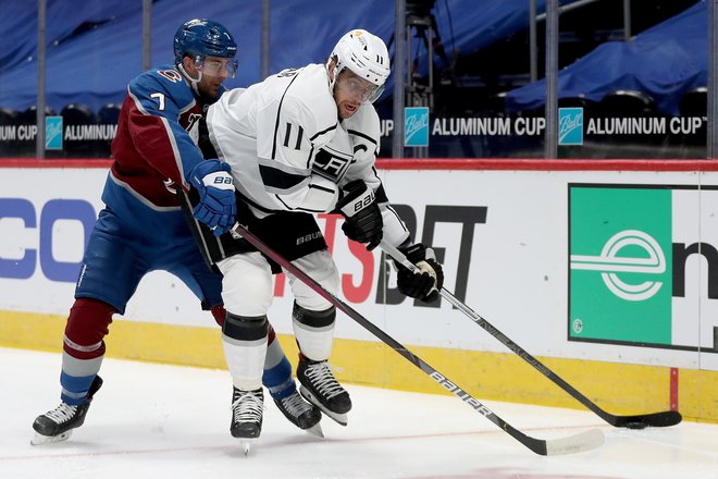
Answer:
[{"label": "upper black hockey glove, at the top end of the black-bladed stick", "polygon": [[344,186],[344,195],[336,202],[334,212],[344,217],[342,230],[349,240],[369,243],[367,249],[374,249],[382,241],[384,222],[376,205],[374,192],[361,180]]}]

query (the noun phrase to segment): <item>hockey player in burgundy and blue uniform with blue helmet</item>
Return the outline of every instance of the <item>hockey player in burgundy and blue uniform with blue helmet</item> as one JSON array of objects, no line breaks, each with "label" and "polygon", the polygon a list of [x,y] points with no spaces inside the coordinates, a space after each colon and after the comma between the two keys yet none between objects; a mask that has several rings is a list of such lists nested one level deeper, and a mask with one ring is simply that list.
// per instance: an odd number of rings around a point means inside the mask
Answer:
[{"label": "hockey player in burgundy and blue uniform with blue helmet", "polygon": [[[215,234],[234,223],[230,168],[205,160],[187,131],[224,93],[224,79],[235,75],[237,46],[219,23],[193,20],[177,30],[174,52],[174,65],[147,71],[127,87],[102,193],[106,208],[87,244],[65,327],[61,404],[37,417],[34,444],[65,440],[83,425],[102,384],[98,372],[112,315],[124,314],[146,273],[175,274],[224,324],[221,275],[197,248],[181,198],[183,192],[196,192],[194,214]],[[301,429],[318,427],[321,413],[296,391],[292,366],[271,328],[265,353],[263,384],[282,413]]]}]

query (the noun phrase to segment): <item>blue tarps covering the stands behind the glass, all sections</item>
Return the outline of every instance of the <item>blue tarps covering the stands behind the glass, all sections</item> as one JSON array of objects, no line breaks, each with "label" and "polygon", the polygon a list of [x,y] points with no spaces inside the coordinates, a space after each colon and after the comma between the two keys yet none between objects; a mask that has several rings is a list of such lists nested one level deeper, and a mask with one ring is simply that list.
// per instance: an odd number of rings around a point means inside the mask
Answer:
[{"label": "blue tarps covering the stands behind the glass, all sections", "polygon": [[[570,3],[577,0],[564,0]],[[538,12],[545,1],[537,1]],[[23,111],[37,101],[37,2],[0,0],[0,107]],[[446,50],[469,54],[529,24],[528,0],[444,0],[433,11]],[[70,103],[97,111],[122,102],[129,79],[143,64],[141,1],[48,0],[46,103],[59,112]],[[154,0],[151,64],[172,61],[172,38],[184,21],[210,17],[224,23],[239,45],[239,74],[227,86],[260,78],[261,1]],[[270,71],[323,62],[335,41],[351,28],[367,28],[387,44],[394,34],[394,2],[335,0],[271,2]],[[11,34],[10,34],[11,33]],[[707,83],[707,5],[701,1],[683,13],[635,36],[603,44],[559,72],[559,97],[601,100],[617,88],[649,94],[659,109],[678,112],[681,95]],[[425,48],[413,40],[425,71]],[[393,48],[392,48],[393,50]],[[436,59],[442,67],[441,59]],[[385,96],[391,95],[389,77]],[[544,81],[507,95],[512,111],[541,107]]]}]

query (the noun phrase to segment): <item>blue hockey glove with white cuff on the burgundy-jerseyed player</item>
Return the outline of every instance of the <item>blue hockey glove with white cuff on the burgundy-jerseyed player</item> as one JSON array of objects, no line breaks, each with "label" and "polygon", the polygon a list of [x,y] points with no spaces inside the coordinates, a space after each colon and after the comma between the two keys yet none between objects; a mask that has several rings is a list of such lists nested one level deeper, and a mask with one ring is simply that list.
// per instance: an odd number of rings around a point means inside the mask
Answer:
[{"label": "blue hockey glove with white cuff on the burgundy-jerseyed player", "polygon": [[231,171],[232,168],[220,160],[205,160],[189,173],[189,183],[199,193],[199,204],[193,213],[215,236],[230,231],[237,216]]}]

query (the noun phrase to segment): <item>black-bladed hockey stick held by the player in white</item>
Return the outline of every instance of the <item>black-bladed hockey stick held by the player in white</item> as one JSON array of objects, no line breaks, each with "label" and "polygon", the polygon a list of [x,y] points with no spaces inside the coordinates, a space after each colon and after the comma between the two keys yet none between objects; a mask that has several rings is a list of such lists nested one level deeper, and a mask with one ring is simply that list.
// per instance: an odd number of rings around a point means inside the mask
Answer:
[{"label": "black-bladed hockey stick held by the player in white", "polygon": [[[381,245],[382,245],[382,249],[384,249],[384,251],[387,255],[394,258],[401,266],[408,268],[412,272],[420,272],[419,268],[417,268],[411,261],[409,261],[407,257],[396,247],[392,246],[386,242],[382,242]],[[581,394],[575,388],[573,388],[568,382],[564,381],[558,374],[556,374],[554,371],[548,369],[543,363],[541,363],[535,357],[531,356],[513,341],[506,337],[504,333],[502,333],[499,330],[494,328],[488,321],[486,321],[484,318],[482,318],[476,312],[474,312],[473,309],[468,307],[466,304],[461,303],[461,300],[459,300],[456,296],[449,293],[445,287],[442,287],[440,294],[444,298],[446,298],[446,300],[453,304],[457,309],[459,309],[461,312],[463,312],[469,318],[471,318],[473,322],[482,327],[484,330],[488,331],[488,333],[492,336],[496,337],[504,346],[511,349],[513,353],[516,353],[517,356],[519,356],[524,361],[529,363],[546,378],[554,381],[556,384],[558,384],[559,388],[561,388],[564,391],[569,393],[579,403],[583,404],[589,409],[593,410],[609,425],[615,426],[617,428],[643,429],[646,426],[652,426],[652,427],[674,426],[681,421],[682,419],[681,414],[677,410],[664,410],[660,413],[637,414],[632,416],[617,416],[615,414],[610,414],[602,409],[601,407],[598,407],[598,405],[596,405],[596,403],[594,403],[593,401]]]}]

